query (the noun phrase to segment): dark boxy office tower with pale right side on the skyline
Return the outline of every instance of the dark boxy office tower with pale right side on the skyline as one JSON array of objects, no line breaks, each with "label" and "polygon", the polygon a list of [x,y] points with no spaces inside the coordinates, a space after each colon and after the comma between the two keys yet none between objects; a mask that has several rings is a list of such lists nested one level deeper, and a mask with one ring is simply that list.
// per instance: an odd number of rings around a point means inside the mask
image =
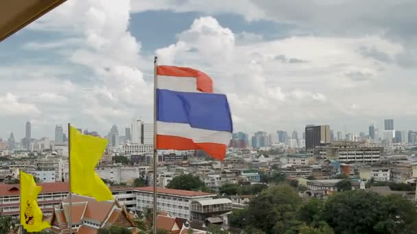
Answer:
[{"label": "dark boxy office tower with pale right side on the skyline", "polygon": [[330,126],[319,125],[305,127],[305,148],[306,151],[320,146],[322,144],[329,144],[330,141]]}]

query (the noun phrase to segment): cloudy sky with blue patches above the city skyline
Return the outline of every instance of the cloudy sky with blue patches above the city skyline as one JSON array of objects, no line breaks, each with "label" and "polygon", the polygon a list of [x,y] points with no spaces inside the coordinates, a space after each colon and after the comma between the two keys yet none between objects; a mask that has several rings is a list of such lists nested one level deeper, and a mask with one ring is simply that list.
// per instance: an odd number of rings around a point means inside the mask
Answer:
[{"label": "cloudy sky with blue patches above the city skyline", "polygon": [[417,1],[67,1],[0,43],[0,137],[151,121],[153,57],[203,70],[235,131],[417,129]]}]

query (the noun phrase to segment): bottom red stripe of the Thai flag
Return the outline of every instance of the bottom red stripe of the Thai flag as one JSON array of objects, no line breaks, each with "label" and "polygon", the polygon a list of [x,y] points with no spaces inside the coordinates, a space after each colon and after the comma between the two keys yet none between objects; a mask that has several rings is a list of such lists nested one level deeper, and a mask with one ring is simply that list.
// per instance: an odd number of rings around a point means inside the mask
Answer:
[{"label": "bottom red stripe of the Thai flag", "polygon": [[217,143],[194,143],[189,138],[173,135],[157,135],[156,148],[173,149],[177,151],[203,150],[215,159],[223,160],[226,155],[226,145]]}]

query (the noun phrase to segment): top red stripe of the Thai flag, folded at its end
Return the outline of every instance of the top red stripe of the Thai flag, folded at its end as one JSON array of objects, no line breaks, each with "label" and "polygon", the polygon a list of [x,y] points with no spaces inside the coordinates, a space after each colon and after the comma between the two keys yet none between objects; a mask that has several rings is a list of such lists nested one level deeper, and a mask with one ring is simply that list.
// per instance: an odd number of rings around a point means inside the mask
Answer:
[{"label": "top red stripe of the Thai flag, folded at its end", "polygon": [[156,68],[156,74],[169,77],[195,77],[197,79],[197,90],[201,92],[213,92],[213,81],[200,70],[180,66],[158,66]]}]

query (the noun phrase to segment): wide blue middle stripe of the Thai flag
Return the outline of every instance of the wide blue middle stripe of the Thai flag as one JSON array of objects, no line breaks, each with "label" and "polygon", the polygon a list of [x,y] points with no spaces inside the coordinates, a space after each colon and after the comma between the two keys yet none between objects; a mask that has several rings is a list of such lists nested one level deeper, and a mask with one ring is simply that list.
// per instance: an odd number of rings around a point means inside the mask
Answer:
[{"label": "wide blue middle stripe of the Thai flag", "polygon": [[232,132],[232,118],[224,94],[156,90],[156,119],[188,123],[191,127]]}]

